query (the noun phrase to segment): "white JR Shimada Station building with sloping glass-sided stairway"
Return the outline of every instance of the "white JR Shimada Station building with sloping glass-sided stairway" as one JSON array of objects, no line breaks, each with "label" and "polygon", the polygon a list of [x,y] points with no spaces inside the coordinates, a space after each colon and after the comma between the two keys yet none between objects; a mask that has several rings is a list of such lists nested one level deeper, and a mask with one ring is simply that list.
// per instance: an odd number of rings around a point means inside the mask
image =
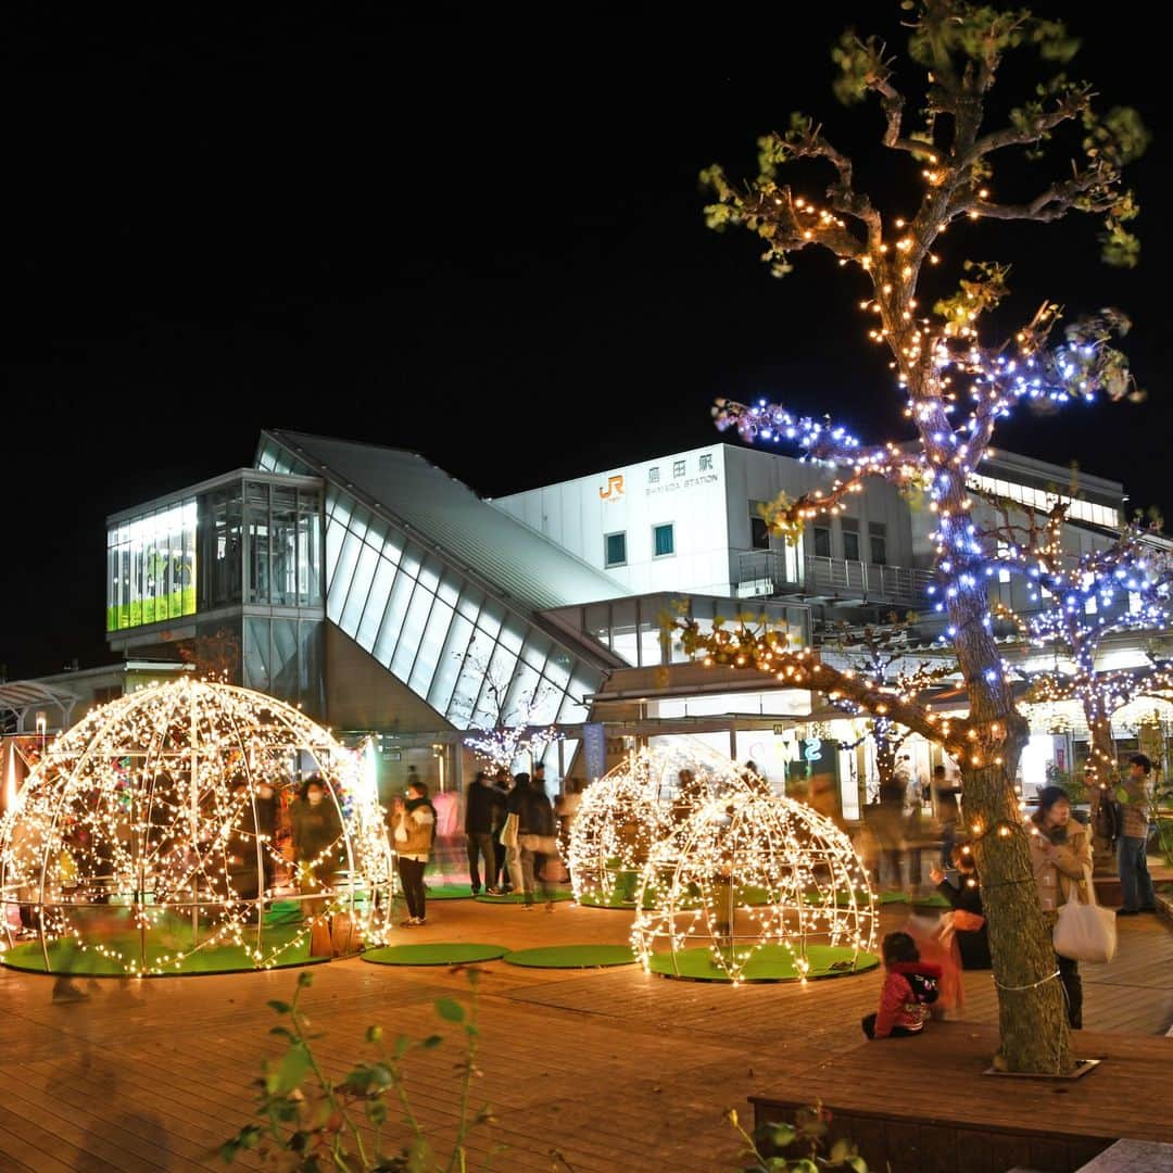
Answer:
[{"label": "white JR Shimada Station building with sloping glass-sided stairway", "polygon": [[[2,716],[11,732],[52,732],[194,662],[347,739],[373,734],[385,794],[412,766],[462,787],[475,768],[467,732],[524,712],[564,733],[548,778],[597,775],[630,746],[687,737],[752,759],[779,791],[818,791],[853,821],[875,778],[869,741],[841,748],[859,740],[854,723],[771,677],[687,663],[662,624],[679,605],[700,624],[752,611],[807,645],[845,622],[917,612],[928,643],[931,515],[891,487],[869,483],[798,545],[767,533],[759,503],[826,476],[714,442],[490,501],[415,453],[266,430],[252,468],[109,517],[104,618],[120,663],[0,685]],[[999,454],[979,480],[1045,504],[1070,474]],[[1121,484],[1082,475],[1067,548],[1108,544],[1126,500]],[[1016,583],[992,589],[1025,608]],[[94,611],[99,622],[97,601]],[[1106,647],[1104,666],[1146,663],[1155,636]],[[1032,666],[1025,650],[1006,655]],[[934,699],[942,712],[963,703],[948,682]],[[1164,747],[1166,707],[1118,713],[1120,751],[1154,721]],[[1074,705],[1028,712],[1029,794],[1078,768],[1086,728]],[[940,751],[911,738],[902,753],[923,780]]]}]

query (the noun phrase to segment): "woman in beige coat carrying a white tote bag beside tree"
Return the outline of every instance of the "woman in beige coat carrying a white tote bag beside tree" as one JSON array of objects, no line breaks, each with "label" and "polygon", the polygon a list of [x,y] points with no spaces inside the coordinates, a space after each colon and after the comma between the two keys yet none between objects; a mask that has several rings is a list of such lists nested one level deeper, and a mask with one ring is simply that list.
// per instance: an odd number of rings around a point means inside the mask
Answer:
[{"label": "woman in beige coat carrying a white tote bag beside tree", "polygon": [[[1062,786],[1044,786],[1038,792],[1038,809],[1030,820],[1030,859],[1043,915],[1051,928],[1059,918],[1059,906],[1069,900],[1090,900],[1087,877],[1092,870],[1092,840],[1087,828],[1071,816],[1071,800]],[[1056,954],[1059,979],[1067,1002],[1067,1023],[1072,1030],[1084,1024],[1084,984],[1079,962]]]}]

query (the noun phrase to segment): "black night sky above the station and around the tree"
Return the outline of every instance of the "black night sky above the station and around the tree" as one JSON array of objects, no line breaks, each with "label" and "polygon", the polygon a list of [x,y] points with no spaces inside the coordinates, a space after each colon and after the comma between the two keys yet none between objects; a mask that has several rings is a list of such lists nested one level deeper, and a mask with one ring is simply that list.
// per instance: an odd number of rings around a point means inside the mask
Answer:
[{"label": "black night sky above the station and around the tree", "polygon": [[[774,280],[747,233],[703,223],[699,169],[752,174],[755,136],[795,108],[911,208],[915,169],[876,149],[874,106],[835,104],[827,52],[861,9],[899,6],[823,4],[801,27],[793,7],[730,9],[728,27],[674,8],[548,26],[9,16],[8,678],[109,662],[106,515],[250,463],[264,426],[415,449],[487,495],[706,443],[717,395],[903,435],[862,286],[807,255]],[[1069,19],[1087,42],[1072,74],[1154,133],[1128,176],[1141,266],[1101,266],[1080,218],[955,230],[941,270],[1011,260],[1006,325],[1045,297],[1132,314],[1145,405],[1024,415],[997,442],[1168,507],[1165,45]],[[1009,168],[995,191],[1039,174]],[[796,185],[819,195],[823,172]]]}]

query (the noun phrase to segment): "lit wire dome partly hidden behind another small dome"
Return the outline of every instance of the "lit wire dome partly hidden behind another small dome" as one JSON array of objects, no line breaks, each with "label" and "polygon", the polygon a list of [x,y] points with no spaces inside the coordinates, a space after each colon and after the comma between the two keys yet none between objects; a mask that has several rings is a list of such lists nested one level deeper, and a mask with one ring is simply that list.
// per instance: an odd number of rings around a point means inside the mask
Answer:
[{"label": "lit wire dome partly hidden behind another small dome", "polygon": [[583,792],[563,845],[575,899],[631,908],[653,848],[677,842],[698,806],[745,786],[735,764],[701,743],[633,751]]}]

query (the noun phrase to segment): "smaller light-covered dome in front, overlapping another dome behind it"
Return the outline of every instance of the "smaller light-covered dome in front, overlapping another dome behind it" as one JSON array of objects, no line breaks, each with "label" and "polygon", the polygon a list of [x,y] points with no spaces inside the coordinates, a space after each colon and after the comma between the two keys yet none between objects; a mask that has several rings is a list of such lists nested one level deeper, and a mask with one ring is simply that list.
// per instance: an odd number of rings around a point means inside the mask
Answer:
[{"label": "smaller light-covered dome in front, overlapping another dome behind it", "polygon": [[806,981],[877,964],[876,901],[850,839],[816,811],[743,789],[649,855],[632,948],[649,972]]}]

